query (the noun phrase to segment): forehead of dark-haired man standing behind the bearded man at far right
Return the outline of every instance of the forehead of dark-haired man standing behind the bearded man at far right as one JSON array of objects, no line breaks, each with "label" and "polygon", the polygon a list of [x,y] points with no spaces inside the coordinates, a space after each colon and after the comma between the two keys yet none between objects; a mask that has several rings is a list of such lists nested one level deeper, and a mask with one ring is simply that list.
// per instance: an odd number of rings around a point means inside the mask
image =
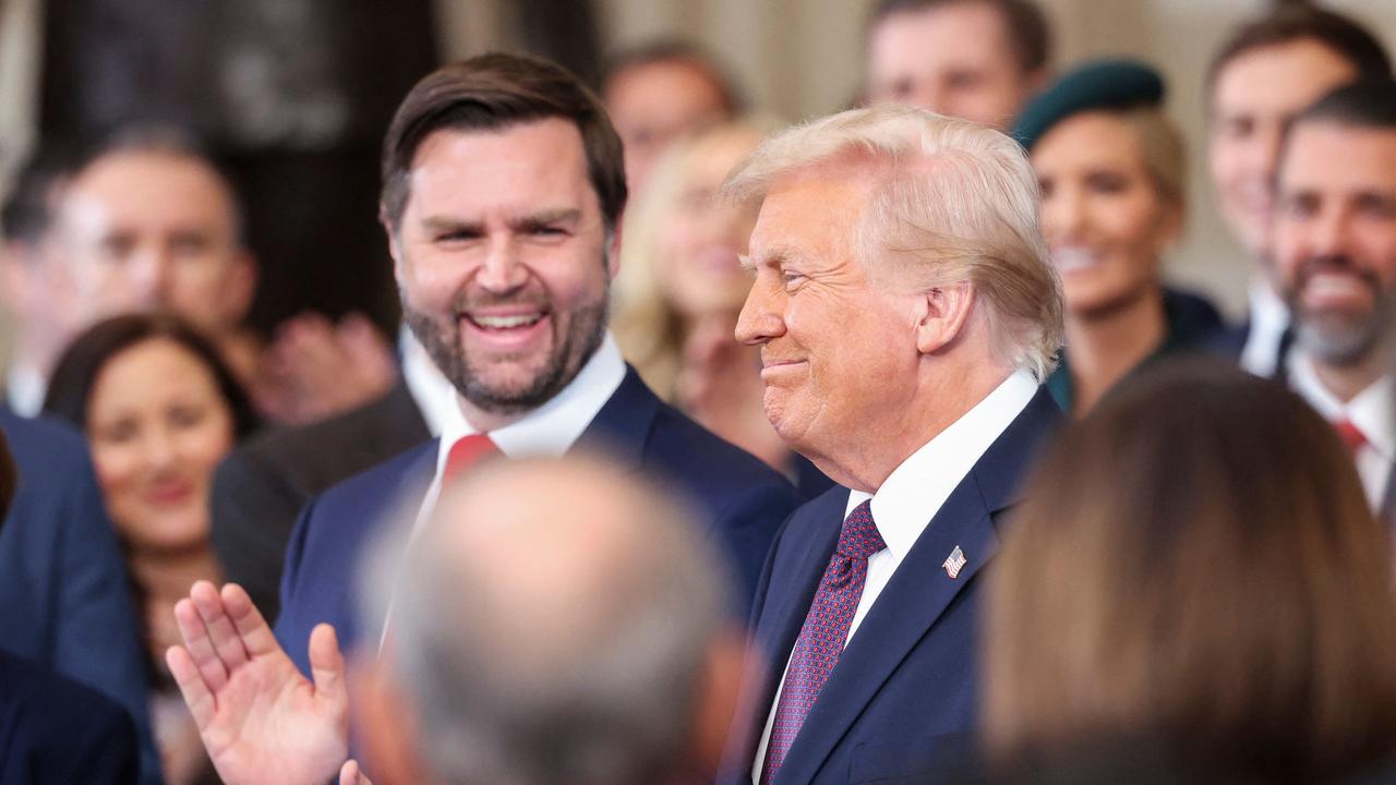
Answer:
[{"label": "forehead of dark-haired man standing behind the bearded man at far right", "polygon": [[1297,38],[1241,52],[1216,75],[1213,108],[1219,112],[1272,109],[1295,112],[1357,70],[1346,57],[1312,38]]}]

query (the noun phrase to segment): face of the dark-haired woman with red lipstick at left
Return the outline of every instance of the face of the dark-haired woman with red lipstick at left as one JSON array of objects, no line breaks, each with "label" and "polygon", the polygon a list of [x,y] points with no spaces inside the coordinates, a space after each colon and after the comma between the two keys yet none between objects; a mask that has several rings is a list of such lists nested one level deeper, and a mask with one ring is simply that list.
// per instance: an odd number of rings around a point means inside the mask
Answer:
[{"label": "face of the dark-haired woman with red lipstick at left", "polygon": [[209,483],[233,446],[233,415],[193,352],[155,338],[112,358],[92,387],[88,439],[127,541],[155,550],[208,541]]}]

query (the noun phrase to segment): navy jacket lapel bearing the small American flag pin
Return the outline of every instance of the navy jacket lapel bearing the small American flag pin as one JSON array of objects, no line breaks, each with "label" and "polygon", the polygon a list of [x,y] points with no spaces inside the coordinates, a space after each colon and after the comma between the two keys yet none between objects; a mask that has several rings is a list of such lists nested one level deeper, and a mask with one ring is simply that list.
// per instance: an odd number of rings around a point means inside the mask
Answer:
[{"label": "navy jacket lapel bearing the small American flag pin", "polygon": [[[882,684],[988,563],[998,550],[993,514],[1018,500],[1019,479],[1041,440],[1060,420],[1061,412],[1046,387],[1040,387],[1023,412],[951,492],[839,656],[780,767],[778,782],[814,779]],[[829,543],[829,550],[832,548],[833,543]],[[966,562],[958,577],[951,578],[942,564],[956,548]],[[819,562],[819,574],[826,560],[828,552]],[[818,581],[818,574],[814,580]],[[812,588],[804,596],[801,620],[811,599]],[[934,696],[927,696],[927,700],[934,700]]]}]

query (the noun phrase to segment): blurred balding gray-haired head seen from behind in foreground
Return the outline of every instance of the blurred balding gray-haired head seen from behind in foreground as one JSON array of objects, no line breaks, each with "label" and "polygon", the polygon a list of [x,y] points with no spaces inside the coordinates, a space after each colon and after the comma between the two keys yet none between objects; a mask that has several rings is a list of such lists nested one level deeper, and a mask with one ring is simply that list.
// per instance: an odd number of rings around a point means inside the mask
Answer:
[{"label": "blurred balding gray-haired head seen from behind in foreground", "polygon": [[371,620],[391,598],[385,655],[350,680],[374,782],[711,775],[744,654],[699,532],[599,461],[498,462],[448,489],[406,556],[366,571]]}]

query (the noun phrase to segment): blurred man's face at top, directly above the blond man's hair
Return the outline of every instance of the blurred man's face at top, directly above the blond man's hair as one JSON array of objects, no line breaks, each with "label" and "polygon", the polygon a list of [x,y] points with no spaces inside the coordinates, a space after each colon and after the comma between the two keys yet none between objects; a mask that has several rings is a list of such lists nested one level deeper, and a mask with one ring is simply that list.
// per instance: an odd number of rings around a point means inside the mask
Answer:
[{"label": "blurred man's face at top, directly above the blond man's hair", "polygon": [[983,3],[902,11],[868,39],[870,103],[910,103],[1008,127],[1033,81],[1018,66],[1004,18]]}]

